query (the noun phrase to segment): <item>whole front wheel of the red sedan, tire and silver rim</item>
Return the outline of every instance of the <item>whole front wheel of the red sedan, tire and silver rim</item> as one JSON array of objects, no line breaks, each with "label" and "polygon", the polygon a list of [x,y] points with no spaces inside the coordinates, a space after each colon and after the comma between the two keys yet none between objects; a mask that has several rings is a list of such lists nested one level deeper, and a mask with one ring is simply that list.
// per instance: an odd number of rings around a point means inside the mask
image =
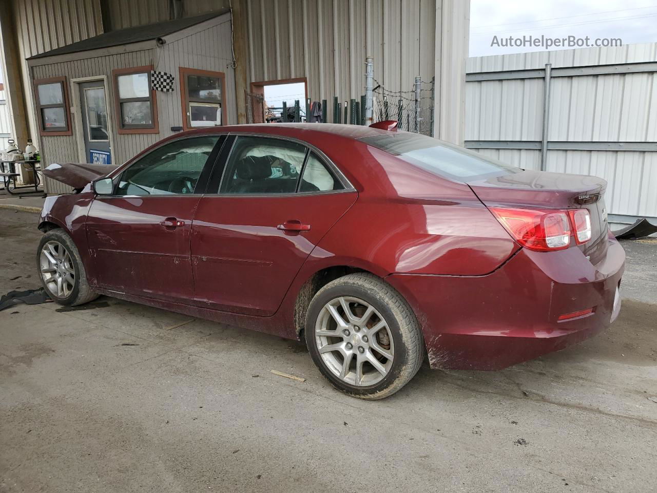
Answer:
[{"label": "whole front wheel of the red sedan, tire and silver rim", "polygon": [[87,283],[78,248],[62,229],[51,229],[41,238],[37,269],[48,296],[60,305],[81,305],[99,296]]}]

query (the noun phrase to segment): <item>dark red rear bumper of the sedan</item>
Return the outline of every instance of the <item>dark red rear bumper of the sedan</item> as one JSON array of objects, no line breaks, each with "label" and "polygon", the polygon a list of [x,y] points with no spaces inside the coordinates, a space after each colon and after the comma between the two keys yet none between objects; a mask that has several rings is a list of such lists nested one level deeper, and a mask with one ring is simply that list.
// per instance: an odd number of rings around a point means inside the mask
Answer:
[{"label": "dark red rear bumper of the sedan", "polygon": [[[432,368],[502,369],[562,350],[606,329],[618,316],[614,298],[625,252],[608,238],[591,264],[578,248],[522,249],[485,276],[393,274],[388,281],[411,303]],[[558,317],[593,308],[592,314]]]}]

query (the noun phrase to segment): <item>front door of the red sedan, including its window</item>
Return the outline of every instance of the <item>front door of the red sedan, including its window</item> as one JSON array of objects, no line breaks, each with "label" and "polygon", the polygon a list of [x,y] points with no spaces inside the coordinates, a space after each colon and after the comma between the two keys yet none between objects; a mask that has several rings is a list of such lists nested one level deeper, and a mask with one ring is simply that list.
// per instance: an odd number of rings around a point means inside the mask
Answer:
[{"label": "front door of the red sedan, including its window", "polygon": [[101,287],[189,304],[194,295],[189,243],[200,199],[195,189],[205,188],[219,139],[170,141],[116,177],[114,195],[93,200],[87,239]]}]

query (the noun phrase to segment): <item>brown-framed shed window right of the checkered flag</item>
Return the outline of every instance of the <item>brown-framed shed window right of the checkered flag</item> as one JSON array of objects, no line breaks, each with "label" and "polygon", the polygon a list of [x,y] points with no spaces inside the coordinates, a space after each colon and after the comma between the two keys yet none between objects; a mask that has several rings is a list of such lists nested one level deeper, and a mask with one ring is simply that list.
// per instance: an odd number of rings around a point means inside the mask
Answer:
[{"label": "brown-framed shed window right of the checkered flag", "polygon": [[181,67],[180,94],[185,130],[226,124],[223,72]]}]

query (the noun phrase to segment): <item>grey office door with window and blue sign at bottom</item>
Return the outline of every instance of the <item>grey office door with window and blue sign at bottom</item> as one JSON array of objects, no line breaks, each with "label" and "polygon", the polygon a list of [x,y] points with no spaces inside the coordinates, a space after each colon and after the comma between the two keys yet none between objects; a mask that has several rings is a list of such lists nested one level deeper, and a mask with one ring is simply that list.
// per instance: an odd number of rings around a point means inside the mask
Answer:
[{"label": "grey office door with window and blue sign at bottom", "polygon": [[92,164],[112,164],[104,80],[79,83],[85,156]]}]

